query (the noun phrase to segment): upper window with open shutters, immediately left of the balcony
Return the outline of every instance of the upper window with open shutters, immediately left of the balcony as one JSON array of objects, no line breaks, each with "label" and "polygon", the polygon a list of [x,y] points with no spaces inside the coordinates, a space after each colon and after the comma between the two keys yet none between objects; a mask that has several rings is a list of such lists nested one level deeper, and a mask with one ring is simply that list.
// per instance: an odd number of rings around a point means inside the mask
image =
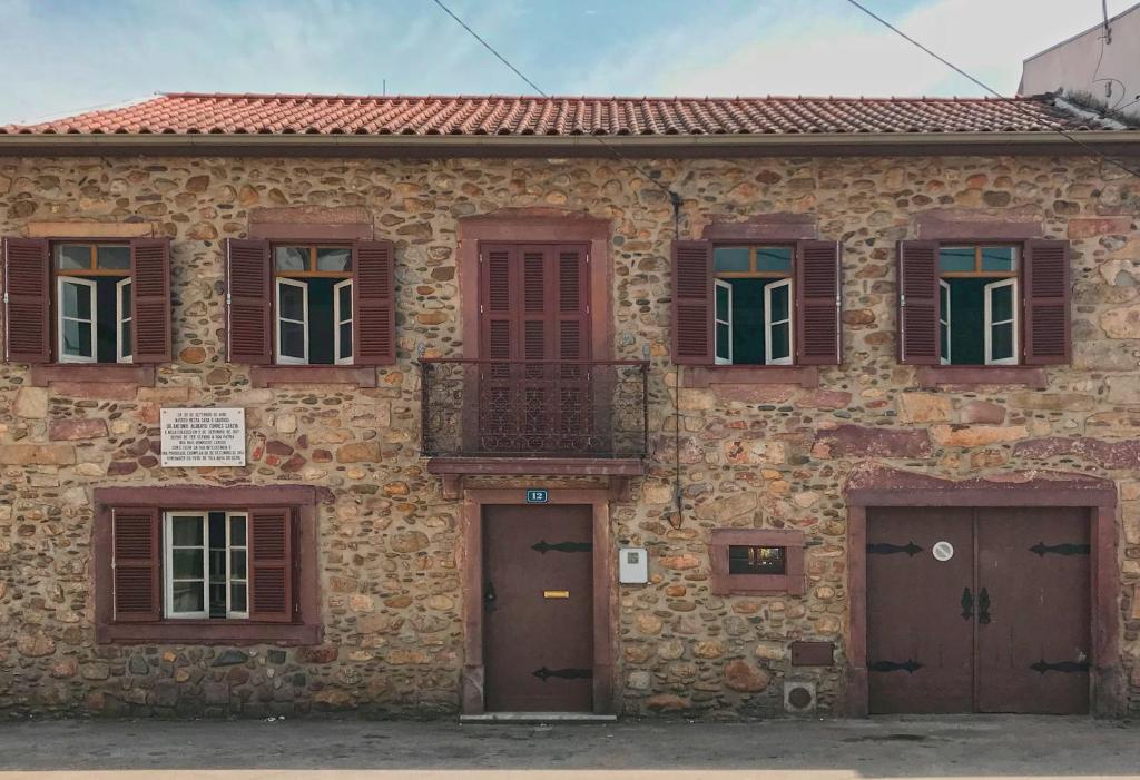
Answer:
[{"label": "upper window with open shutters, immediately left of the balcony", "polygon": [[396,360],[392,245],[226,245],[234,362],[376,366]]}]

